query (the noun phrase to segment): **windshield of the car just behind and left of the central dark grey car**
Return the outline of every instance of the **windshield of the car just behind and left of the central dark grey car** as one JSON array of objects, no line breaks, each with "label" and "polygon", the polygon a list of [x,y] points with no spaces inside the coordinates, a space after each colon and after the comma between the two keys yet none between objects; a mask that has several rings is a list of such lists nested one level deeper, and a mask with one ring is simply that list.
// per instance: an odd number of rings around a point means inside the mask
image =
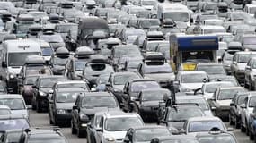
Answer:
[{"label": "windshield of the car just behind and left of the central dark grey car", "polygon": [[137,74],[123,74],[114,77],[114,85],[124,85],[128,80],[139,79]]}]

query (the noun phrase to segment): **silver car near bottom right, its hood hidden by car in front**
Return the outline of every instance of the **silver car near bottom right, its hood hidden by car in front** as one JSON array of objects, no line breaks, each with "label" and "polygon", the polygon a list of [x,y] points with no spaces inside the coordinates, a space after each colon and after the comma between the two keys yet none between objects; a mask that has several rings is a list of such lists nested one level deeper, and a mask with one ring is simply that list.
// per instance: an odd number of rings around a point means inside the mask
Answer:
[{"label": "silver car near bottom right, its hood hidden by car in front", "polygon": [[225,123],[218,117],[193,117],[188,119],[184,124],[184,132],[187,135],[209,132],[212,128],[218,128],[222,131],[229,130],[225,127]]}]

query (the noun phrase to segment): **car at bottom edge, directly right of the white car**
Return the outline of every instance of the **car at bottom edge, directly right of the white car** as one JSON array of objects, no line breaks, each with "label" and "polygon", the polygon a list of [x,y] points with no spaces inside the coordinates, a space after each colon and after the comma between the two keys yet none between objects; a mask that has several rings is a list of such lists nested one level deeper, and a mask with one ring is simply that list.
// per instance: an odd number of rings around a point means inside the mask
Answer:
[{"label": "car at bottom edge, directly right of the white car", "polygon": [[171,136],[170,130],[163,126],[144,126],[140,128],[131,128],[128,130],[124,143],[149,142],[159,136]]}]

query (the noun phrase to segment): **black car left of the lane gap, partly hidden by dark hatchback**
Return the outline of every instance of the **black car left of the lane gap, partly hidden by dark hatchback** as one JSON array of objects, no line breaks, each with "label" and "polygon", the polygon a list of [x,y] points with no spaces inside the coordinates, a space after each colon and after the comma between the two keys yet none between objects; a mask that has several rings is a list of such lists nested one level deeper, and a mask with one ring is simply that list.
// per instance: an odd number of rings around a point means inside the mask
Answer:
[{"label": "black car left of the lane gap, partly hidden by dark hatchback", "polygon": [[33,97],[31,101],[32,109],[41,112],[43,108],[48,109],[49,90],[57,81],[67,80],[64,76],[40,76],[33,88]]}]

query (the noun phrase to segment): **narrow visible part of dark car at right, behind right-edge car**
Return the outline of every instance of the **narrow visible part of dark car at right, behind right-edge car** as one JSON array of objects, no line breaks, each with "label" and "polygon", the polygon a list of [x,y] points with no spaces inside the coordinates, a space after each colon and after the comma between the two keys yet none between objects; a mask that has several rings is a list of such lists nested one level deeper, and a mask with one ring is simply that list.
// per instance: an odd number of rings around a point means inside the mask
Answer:
[{"label": "narrow visible part of dark car at right, behind right-edge car", "polygon": [[246,92],[238,92],[234,95],[230,103],[230,114],[229,114],[229,122],[230,124],[234,124],[235,128],[240,128],[241,123],[241,111],[243,110],[240,105],[243,104],[245,97],[248,94]]}]

